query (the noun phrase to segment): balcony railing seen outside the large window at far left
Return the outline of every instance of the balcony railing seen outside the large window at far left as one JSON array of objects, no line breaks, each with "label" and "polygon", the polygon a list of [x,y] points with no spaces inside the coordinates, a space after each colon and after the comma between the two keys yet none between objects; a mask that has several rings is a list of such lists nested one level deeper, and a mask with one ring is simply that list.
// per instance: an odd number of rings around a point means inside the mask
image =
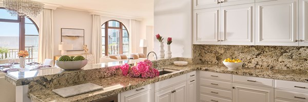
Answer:
[{"label": "balcony railing seen outside the large window at far left", "polygon": [[[25,58],[26,62],[36,62],[38,57],[38,47],[26,47],[26,50],[29,52],[29,56]],[[17,53],[19,52],[19,49],[8,49],[8,53],[0,54],[0,59],[19,59]]]}]

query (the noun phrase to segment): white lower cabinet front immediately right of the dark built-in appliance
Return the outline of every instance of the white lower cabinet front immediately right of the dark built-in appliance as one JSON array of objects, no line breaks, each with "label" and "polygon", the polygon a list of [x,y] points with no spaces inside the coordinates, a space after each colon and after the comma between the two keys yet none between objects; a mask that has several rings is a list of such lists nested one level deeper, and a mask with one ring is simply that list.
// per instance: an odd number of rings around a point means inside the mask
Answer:
[{"label": "white lower cabinet front immediately right of the dark built-in appliance", "polygon": [[121,93],[121,102],[153,102],[154,84]]}]

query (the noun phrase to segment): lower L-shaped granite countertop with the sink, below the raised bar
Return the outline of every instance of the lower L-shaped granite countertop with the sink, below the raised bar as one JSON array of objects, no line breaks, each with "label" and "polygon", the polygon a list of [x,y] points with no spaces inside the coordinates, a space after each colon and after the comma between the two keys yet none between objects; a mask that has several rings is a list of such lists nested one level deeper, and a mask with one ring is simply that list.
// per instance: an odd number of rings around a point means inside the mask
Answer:
[{"label": "lower L-shaped granite countertop with the sink, below the raised bar", "polygon": [[[296,81],[308,83],[308,73],[303,71],[292,70],[273,70],[273,69],[256,69],[256,68],[239,68],[236,70],[228,70],[223,65],[210,65],[210,64],[189,64],[187,66],[167,65],[160,68],[179,70],[176,72],[161,75],[160,77],[143,79],[143,78],[130,78],[123,77],[123,75],[113,75],[109,78],[97,79],[82,83],[74,83],[73,85],[80,85],[84,83],[93,83],[104,87],[104,90],[88,92],[76,96],[63,98],[60,95],[53,93],[51,90],[45,89],[40,91],[29,92],[32,101],[93,101],[107,96],[118,94],[134,88],[145,86],[151,83],[159,82],[162,80],[177,77],[194,70],[230,73],[236,75],[244,75],[249,77],[259,77],[286,81]],[[159,69],[160,69],[159,68]]]}]

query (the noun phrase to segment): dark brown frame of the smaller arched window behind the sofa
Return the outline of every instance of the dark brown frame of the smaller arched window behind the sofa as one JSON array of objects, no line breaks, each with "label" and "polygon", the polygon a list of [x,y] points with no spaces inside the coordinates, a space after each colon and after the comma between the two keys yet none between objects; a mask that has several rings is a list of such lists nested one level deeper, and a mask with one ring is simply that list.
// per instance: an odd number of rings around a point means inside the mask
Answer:
[{"label": "dark brown frame of the smaller arched window behind the sofa", "polygon": [[[109,21],[117,21],[120,23],[120,27],[109,27]],[[103,28],[103,25],[105,24],[105,27]],[[123,27],[125,27],[125,29],[123,29]],[[105,23],[102,24],[102,29],[105,29],[105,36],[102,35],[102,38],[104,37],[105,38],[105,52],[102,51],[102,54],[105,53],[105,56],[108,56],[109,55],[109,50],[108,50],[108,29],[115,29],[115,30],[119,30],[120,31],[120,36],[119,36],[119,43],[120,43],[120,46],[119,46],[119,54],[123,54],[123,30],[126,30],[127,32],[127,35],[128,37],[124,37],[124,38],[128,38],[128,42],[129,42],[129,33],[128,33],[128,30],[126,28],[126,26],[121,22],[121,21],[118,21],[118,20],[108,20],[106,21]],[[102,31],[103,32],[103,31]],[[124,44],[124,45],[128,45],[129,44]],[[102,44],[103,46],[103,44]],[[124,53],[129,53],[129,52],[124,52]]]}]

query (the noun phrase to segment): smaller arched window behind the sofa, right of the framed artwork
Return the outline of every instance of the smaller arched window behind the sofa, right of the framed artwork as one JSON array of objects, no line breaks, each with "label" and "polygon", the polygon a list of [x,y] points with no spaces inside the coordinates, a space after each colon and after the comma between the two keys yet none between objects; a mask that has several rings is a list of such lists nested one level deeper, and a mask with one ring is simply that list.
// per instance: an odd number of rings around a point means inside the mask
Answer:
[{"label": "smaller arched window behind the sofa, right of the framed artwork", "polygon": [[125,25],[117,20],[106,21],[102,25],[103,55],[129,54],[129,36]]}]

